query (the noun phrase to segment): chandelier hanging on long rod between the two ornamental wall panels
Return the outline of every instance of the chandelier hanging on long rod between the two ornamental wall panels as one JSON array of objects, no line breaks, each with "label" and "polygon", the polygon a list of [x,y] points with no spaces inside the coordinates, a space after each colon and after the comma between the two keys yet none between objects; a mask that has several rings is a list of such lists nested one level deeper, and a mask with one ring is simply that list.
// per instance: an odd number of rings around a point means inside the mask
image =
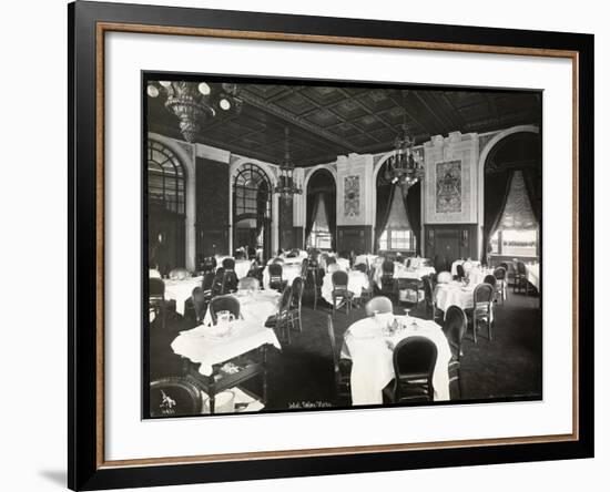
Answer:
[{"label": "chandelier hanging on long rod between the two ornamental wall panels", "polygon": [[414,151],[415,140],[409,135],[405,92],[403,92],[403,133],[394,142],[394,154],[387,161],[385,178],[393,184],[399,183],[408,189],[424,178],[424,164]]}]

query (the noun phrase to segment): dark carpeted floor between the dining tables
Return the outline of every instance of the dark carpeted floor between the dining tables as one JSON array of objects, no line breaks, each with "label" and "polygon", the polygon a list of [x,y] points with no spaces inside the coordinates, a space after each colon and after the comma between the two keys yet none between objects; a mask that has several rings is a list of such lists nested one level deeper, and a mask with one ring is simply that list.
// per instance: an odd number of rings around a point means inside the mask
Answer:
[{"label": "dark carpeted floor between the dining tables", "polygon": [[[461,400],[532,399],[542,396],[542,329],[539,298],[509,293],[506,304],[495,306],[494,340],[487,332],[472,341],[471,334],[464,340],[461,361]],[[303,332],[293,332],[292,345],[282,351],[271,350],[268,357],[267,410],[286,408],[326,408],[337,404],[334,389],[333,361],[326,318],[332,309],[325,305],[316,310],[311,299],[304,298]],[[395,307],[404,314],[405,306]],[[335,337],[340,346],[344,331],[365,316],[355,309],[349,316],[337,312],[333,318]],[[411,316],[426,317],[423,306]],[[180,375],[182,363],[173,355],[170,344],[177,332],[189,328],[180,315],[173,315],[165,329],[151,326],[151,379]],[[260,392],[261,383],[253,380],[246,389]],[[459,398],[457,386],[451,386],[451,399]],[[345,406],[343,402],[342,406]]]}]

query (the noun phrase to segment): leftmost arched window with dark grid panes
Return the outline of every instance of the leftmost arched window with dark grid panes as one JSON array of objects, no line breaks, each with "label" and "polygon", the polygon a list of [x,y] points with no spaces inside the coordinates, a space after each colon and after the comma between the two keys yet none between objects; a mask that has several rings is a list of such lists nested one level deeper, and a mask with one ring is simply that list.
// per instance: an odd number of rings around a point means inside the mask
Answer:
[{"label": "leftmost arched window with dark grid panes", "polygon": [[148,144],[149,203],[184,215],[184,170],[177,156],[155,141]]}]

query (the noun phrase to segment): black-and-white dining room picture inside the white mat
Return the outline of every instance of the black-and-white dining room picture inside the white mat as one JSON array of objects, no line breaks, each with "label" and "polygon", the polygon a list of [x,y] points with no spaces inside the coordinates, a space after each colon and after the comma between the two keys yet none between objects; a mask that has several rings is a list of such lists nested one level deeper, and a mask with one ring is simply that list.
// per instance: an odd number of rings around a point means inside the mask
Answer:
[{"label": "black-and-white dining room picture inside the white mat", "polygon": [[145,72],[142,103],[143,418],[542,399],[540,91]]}]

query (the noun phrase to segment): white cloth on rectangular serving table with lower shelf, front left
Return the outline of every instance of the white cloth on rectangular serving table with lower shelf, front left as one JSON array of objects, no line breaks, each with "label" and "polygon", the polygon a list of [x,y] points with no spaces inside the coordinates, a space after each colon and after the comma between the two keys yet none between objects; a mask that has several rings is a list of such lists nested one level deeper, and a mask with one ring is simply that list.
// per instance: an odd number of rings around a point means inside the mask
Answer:
[{"label": "white cloth on rectangular serving table with lower shelf, front left", "polygon": [[212,366],[215,363],[225,362],[263,345],[270,344],[282,349],[272,328],[244,319],[233,321],[232,336],[223,340],[205,337],[206,330],[210,328],[200,325],[192,330],[182,331],[172,341],[174,353],[186,357],[192,362],[201,362],[200,372],[204,376],[212,375]]}]

